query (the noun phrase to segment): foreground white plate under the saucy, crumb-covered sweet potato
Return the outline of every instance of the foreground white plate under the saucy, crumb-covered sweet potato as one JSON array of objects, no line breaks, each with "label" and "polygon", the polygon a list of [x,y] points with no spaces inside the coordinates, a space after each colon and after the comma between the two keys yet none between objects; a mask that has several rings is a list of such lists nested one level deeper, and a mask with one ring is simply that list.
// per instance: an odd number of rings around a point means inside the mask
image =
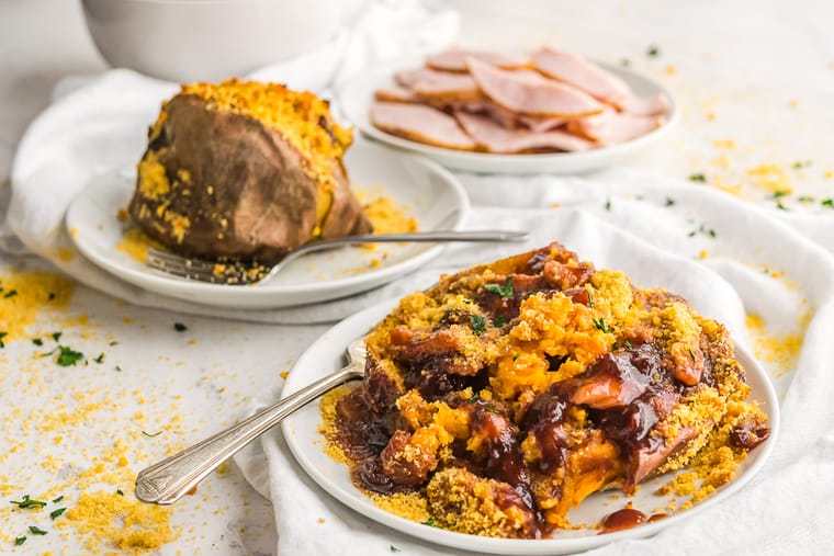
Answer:
[{"label": "foreground white plate under the saucy, crumb-covered sweet potato", "polygon": [[[286,378],[282,396],[289,396],[311,382],[336,371],[341,365],[347,344],[365,333],[369,328],[387,315],[395,305],[395,300],[376,305],[342,320],[325,332],[298,359]],[[322,423],[318,402],[314,401],[284,420],[282,430],[295,458],[322,488],[353,510],[403,533],[453,548],[491,554],[545,555],[587,551],[619,538],[650,536],[657,533],[661,529],[679,523],[695,515],[700,510],[726,499],[730,495],[742,488],[764,465],[776,442],[776,432],[779,429],[779,407],[776,393],[764,370],[748,353],[736,347],[736,358],[747,373],[747,382],[752,387],[750,399],[758,401],[762,411],[770,420],[770,438],[751,453],[736,470],[735,478],[719,488],[710,498],[707,498],[689,510],[672,514],[664,520],[606,535],[599,535],[597,530],[582,529],[577,531],[559,531],[554,533],[553,538],[538,541],[486,538],[421,525],[414,521],[398,518],[374,506],[365,495],[353,486],[348,467],[345,464],[335,462],[324,453],[324,439],[318,432],[318,427]],[[282,469],[273,470],[273,473],[282,472]],[[653,493],[658,486],[667,483],[670,477],[670,475],[664,475],[642,484],[638,493],[630,498],[620,493],[619,499],[612,501],[610,499],[611,492],[591,495],[579,504],[578,509],[573,510],[568,518],[573,523],[599,523],[608,513],[623,508],[627,501],[631,501],[634,508],[647,515],[655,513],[656,508],[665,507],[673,498],[672,496],[663,497]]]}]

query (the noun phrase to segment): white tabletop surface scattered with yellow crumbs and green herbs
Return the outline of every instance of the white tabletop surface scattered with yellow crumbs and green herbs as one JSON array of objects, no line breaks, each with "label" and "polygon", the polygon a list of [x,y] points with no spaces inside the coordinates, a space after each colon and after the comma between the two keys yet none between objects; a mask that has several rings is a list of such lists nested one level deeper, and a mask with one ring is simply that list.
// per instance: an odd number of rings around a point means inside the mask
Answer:
[{"label": "white tabletop surface scattered with yellow crumbs and green herbs", "polygon": [[[706,183],[694,186],[717,186],[775,213],[830,211],[822,201],[834,195],[829,139],[834,35],[826,29],[834,4],[449,3],[463,13],[462,44],[523,48],[554,41],[591,57],[628,63],[670,87],[683,105],[683,125],[630,166],[683,180],[703,174]],[[651,45],[660,55],[646,54]],[[55,83],[105,65],[87,34],[79,2],[4,0],[0,68],[2,182],[18,139],[47,105]],[[0,273],[42,266],[7,257]],[[187,330],[174,330],[176,322]],[[4,500],[64,495],[70,507],[81,491],[120,488],[129,495],[132,474],[234,422],[325,329],[182,317],[77,286],[66,309],[42,311],[27,338],[7,341],[0,352],[0,495]],[[57,345],[49,334],[58,330],[59,343],[84,353],[87,365],[61,367],[53,358],[38,356]],[[101,353],[105,356],[97,363]],[[99,465],[114,470],[98,473]],[[50,509],[12,511],[0,504],[0,553],[109,549],[84,548],[84,537],[63,525],[63,518],[49,519]],[[269,502],[234,466],[172,507],[170,520],[179,536],[160,554],[274,552]],[[48,533],[27,534],[31,525]],[[13,541],[22,534],[27,541],[15,548]]]}]

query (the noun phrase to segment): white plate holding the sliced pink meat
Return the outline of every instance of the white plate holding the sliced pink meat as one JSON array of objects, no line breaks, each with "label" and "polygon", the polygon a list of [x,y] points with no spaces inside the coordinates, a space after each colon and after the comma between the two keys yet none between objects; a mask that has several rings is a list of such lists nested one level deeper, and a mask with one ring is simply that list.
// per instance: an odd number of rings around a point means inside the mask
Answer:
[{"label": "white plate holding the sliced pink meat", "polygon": [[376,89],[395,86],[394,73],[399,69],[415,68],[422,60],[399,61],[384,68],[365,70],[352,77],[339,89],[338,106],[350,122],[364,135],[376,140],[426,155],[448,168],[471,172],[497,173],[579,173],[611,166],[620,159],[649,147],[666,135],[677,123],[678,110],[672,93],[657,81],[646,76],[611,64],[597,63],[608,71],[619,76],[631,87],[638,97],[654,97],[663,94],[669,103],[666,121],[656,129],[635,139],[600,147],[585,152],[553,152],[530,155],[494,155],[487,152],[466,152],[462,150],[433,147],[422,143],[397,137],[376,128],[371,123],[370,110],[374,102]]}]

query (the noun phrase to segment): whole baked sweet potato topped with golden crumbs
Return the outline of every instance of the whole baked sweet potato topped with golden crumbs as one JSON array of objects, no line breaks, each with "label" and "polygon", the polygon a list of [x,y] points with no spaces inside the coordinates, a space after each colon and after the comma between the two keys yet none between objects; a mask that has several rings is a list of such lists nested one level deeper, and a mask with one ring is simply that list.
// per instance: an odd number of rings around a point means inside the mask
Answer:
[{"label": "whole baked sweet potato topped with golden crumbs", "polygon": [[279,84],[183,86],[148,133],[129,204],[174,252],[271,263],[315,238],[371,230],[327,103]]}]

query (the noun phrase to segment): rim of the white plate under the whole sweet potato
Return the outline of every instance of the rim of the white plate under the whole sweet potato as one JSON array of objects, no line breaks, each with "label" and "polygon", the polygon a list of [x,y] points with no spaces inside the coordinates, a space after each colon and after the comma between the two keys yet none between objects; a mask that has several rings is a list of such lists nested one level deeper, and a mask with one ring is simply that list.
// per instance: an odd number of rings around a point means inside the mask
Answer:
[{"label": "rim of the white plate under the whole sweet potato", "polygon": [[[454,217],[452,224],[450,225],[450,229],[457,230],[457,229],[463,228],[465,220],[469,217],[469,214],[471,212],[471,202],[460,180],[447,168],[444,168],[442,164],[439,164],[437,161],[431,160],[425,156],[420,156],[419,154],[404,152],[398,149],[392,149],[385,145],[382,145],[375,141],[364,141],[360,139],[360,140],[354,141],[352,149],[356,149],[359,151],[369,149],[364,156],[371,156],[371,157],[374,156],[374,152],[373,152],[374,150],[384,150],[386,151],[386,156],[399,158],[401,159],[399,164],[407,164],[407,163],[418,164],[418,166],[421,166],[427,173],[435,174],[436,177],[438,177],[439,182],[441,182],[447,188],[449,193],[452,194],[457,200],[457,208],[458,208],[457,216]],[[68,236],[70,237],[74,246],[81,252],[81,254],[84,256],[87,260],[94,263],[98,268],[103,269],[109,274],[117,279],[124,280],[125,282],[128,282],[133,285],[137,285],[139,287],[143,287],[156,294],[165,295],[167,297],[174,297],[174,298],[188,300],[191,303],[199,303],[203,305],[214,305],[214,304],[206,303],[204,300],[196,300],[193,298],[193,295],[199,295],[201,296],[201,298],[204,298],[205,296],[210,296],[212,294],[224,295],[225,293],[230,291],[229,290],[230,287],[234,287],[235,295],[239,295],[240,297],[251,299],[251,300],[263,299],[264,302],[267,302],[267,298],[271,296],[288,297],[288,296],[301,295],[301,294],[314,294],[315,292],[317,292],[318,290],[322,290],[323,287],[327,288],[327,291],[350,288],[349,290],[350,293],[348,294],[339,294],[339,293],[334,293],[333,295],[328,294],[316,302],[281,303],[281,304],[272,303],[268,305],[269,307],[272,307],[272,308],[297,307],[297,306],[303,306],[311,303],[322,303],[326,300],[337,299],[337,298],[343,297],[345,295],[357,294],[360,292],[364,292],[369,288],[376,287],[382,284],[386,284],[391,282],[392,280],[395,280],[397,276],[401,276],[404,273],[407,273],[409,270],[419,268],[421,264],[436,258],[444,247],[442,243],[438,243],[438,245],[429,247],[428,249],[421,252],[418,252],[417,254],[404,261],[399,261],[395,264],[392,264],[390,266],[383,266],[381,269],[371,269],[371,270],[368,270],[367,272],[362,272],[361,274],[338,277],[334,280],[326,280],[326,281],[320,281],[320,282],[293,284],[293,285],[267,284],[267,285],[257,286],[257,287],[229,286],[229,285],[224,285],[224,284],[208,284],[208,283],[196,282],[196,281],[188,281],[188,280],[179,279],[176,276],[165,276],[162,274],[146,272],[143,269],[134,269],[129,265],[124,264],[115,256],[105,256],[105,254],[103,256],[100,252],[100,250],[95,249],[91,245],[88,245],[86,238],[83,238],[81,234],[74,232],[74,228],[75,230],[78,230],[77,222],[79,220],[79,218],[81,218],[81,216],[78,213],[82,209],[81,207],[84,204],[84,202],[87,202],[95,191],[98,191],[99,189],[103,189],[105,186],[102,183],[102,180],[104,180],[108,175],[115,178],[116,175],[122,174],[122,172],[124,171],[125,171],[124,168],[116,168],[116,169],[110,169],[108,171],[92,175],[88,180],[84,188],[72,198],[69,206],[67,207],[67,211],[64,217],[64,228],[68,232]],[[350,167],[348,167],[348,172],[350,173]],[[382,188],[384,190],[385,185],[382,184]],[[115,215],[113,215],[113,217],[115,218]],[[372,283],[372,285],[364,288],[362,288],[362,286],[359,286],[359,288],[356,287],[359,284],[362,284],[365,282],[370,282]],[[171,292],[176,292],[176,294]],[[247,306],[240,306],[240,307],[249,307],[249,306],[247,305]]]}]

